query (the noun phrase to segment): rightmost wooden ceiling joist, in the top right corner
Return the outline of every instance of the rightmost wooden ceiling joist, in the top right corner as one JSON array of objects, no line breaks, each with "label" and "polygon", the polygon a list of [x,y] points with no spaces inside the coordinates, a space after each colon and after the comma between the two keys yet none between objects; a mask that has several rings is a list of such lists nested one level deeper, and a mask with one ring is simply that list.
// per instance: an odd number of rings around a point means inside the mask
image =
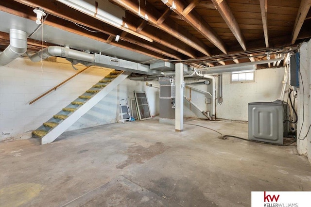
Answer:
[{"label": "rightmost wooden ceiling joist, in the top right corner", "polygon": [[292,44],[296,42],[296,39],[301,30],[303,22],[305,21],[308,15],[310,7],[311,7],[311,0],[301,0],[292,33]]}]

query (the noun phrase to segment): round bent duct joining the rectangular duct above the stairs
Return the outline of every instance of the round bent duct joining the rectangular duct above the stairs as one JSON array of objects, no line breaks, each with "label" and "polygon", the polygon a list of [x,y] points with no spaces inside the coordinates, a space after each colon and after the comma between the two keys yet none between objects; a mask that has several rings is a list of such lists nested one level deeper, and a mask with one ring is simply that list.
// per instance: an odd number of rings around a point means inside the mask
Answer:
[{"label": "round bent duct joining the rectangular duct above the stairs", "polygon": [[39,62],[41,61],[41,59],[44,60],[51,56],[70,58],[90,63],[93,63],[95,61],[95,55],[93,54],[60,46],[50,46],[29,56],[29,58],[32,62]]}]

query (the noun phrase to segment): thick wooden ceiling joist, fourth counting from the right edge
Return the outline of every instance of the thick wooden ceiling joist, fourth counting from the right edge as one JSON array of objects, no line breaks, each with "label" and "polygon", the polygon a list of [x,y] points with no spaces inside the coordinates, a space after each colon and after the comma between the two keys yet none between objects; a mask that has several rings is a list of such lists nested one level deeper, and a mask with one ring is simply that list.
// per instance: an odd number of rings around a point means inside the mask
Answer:
[{"label": "thick wooden ceiling joist, fourth counting from the right edge", "polygon": [[[183,16],[185,8],[184,0],[165,0],[164,3],[170,7],[176,14]],[[219,35],[207,24],[207,22],[196,11],[192,11],[187,16],[183,16],[185,21],[190,24],[196,31],[200,32],[213,45],[219,48],[222,52],[227,54],[224,41]],[[209,54],[210,56],[210,54]]]}]

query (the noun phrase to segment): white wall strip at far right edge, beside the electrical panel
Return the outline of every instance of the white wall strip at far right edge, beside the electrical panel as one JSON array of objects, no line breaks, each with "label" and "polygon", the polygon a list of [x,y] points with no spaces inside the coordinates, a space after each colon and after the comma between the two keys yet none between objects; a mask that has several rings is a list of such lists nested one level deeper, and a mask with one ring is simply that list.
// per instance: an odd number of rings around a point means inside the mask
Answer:
[{"label": "white wall strip at far right edge, beside the electrical panel", "polygon": [[[308,155],[311,162],[311,41],[303,43],[300,52],[300,73],[298,88],[298,122],[297,122],[297,150],[301,155]],[[302,78],[302,79],[301,79]],[[307,136],[306,136],[307,135]]]}]

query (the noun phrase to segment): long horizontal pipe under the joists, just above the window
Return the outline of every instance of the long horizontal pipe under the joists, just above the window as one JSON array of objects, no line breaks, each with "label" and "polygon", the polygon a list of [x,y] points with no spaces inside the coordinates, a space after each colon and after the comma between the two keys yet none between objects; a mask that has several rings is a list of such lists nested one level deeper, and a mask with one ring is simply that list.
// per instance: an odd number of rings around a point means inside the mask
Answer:
[{"label": "long horizontal pipe under the joists, just above the window", "polygon": [[272,63],[272,62],[275,62],[275,61],[281,61],[283,59],[284,59],[284,56],[281,55],[281,57],[277,58],[277,59],[270,59],[270,60],[256,61],[256,62],[248,62],[248,63],[240,63],[240,64],[220,65],[220,66],[214,66],[214,67],[204,67],[204,68],[200,68],[200,69],[197,69],[197,70],[198,71],[206,71],[205,74],[226,73],[226,72],[245,70],[241,66],[257,65],[257,64],[267,64],[267,63]]}]

